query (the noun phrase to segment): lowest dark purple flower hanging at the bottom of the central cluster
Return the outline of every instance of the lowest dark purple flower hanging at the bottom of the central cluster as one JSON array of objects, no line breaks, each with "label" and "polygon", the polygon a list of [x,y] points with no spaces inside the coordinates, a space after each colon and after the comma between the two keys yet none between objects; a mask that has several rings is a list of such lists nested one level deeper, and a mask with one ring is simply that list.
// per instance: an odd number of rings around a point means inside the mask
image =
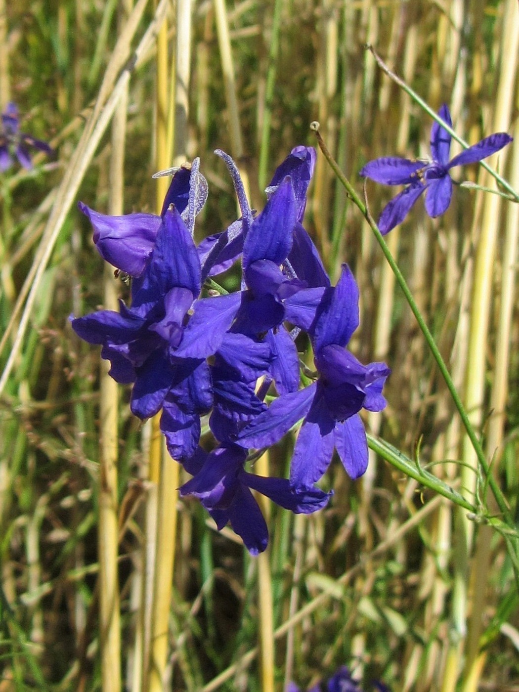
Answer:
[{"label": "lowest dark purple flower hanging at the bottom of the central cluster", "polygon": [[267,546],[268,529],[251,490],[266,495],[280,507],[305,514],[325,507],[331,493],[315,487],[296,490],[284,478],[248,473],[244,469],[246,457],[246,450],[236,445],[220,446],[209,454],[199,448],[184,464],[194,477],[181,486],[180,494],[199,498],[218,529],[230,522],[248,551],[257,555]]}]

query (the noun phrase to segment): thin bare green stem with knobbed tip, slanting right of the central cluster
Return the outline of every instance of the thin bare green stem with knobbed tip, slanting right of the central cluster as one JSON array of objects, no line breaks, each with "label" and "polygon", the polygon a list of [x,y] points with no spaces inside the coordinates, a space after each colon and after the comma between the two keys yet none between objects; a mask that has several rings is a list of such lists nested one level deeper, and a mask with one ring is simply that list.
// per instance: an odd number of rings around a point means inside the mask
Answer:
[{"label": "thin bare green stem with knobbed tip, slanting right of the central cluster", "polygon": [[441,372],[441,376],[443,376],[445,383],[447,385],[447,388],[450,392],[450,396],[453,397],[453,401],[455,403],[455,406],[459,412],[459,415],[462,419],[463,425],[465,427],[465,430],[467,432],[467,435],[469,439],[471,440],[471,443],[473,445],[473,448],[475,450],[475,453],[477,455],[477,460],[480,462],[480,466],[484,472],[484,475],[486,477],[486,480],[488,481],[492,493],[494,495],[495,501],[498,503],[498,507],[500,511],[502,512],[502,515],[504,516],[505,520],[507,521],[507,524],[510,526],[513,526],[513,519],[511,517],[511,513],[509,510],[509,507],[507,505],[507,501],[504,499],[504,495],[498,486],[497,482],[495,481],[495,478],[491,474],[489,464],[486,462],[486,458],[483,452],[483,448],[481,446],[480,440],[477,438],[477,435],[475,433],[475,430],[471,424],[471,421],[468,419],[468,415],[466,413],[466,410],[463,406],[462,400],[459,397],[459,394],[457,393],[457,390],[455,388],[453,379],[450,376],[450,373],[448,372],[447,366],[445,364],[444,359],[441,357],[441,353],[439,352],[439,349],[435,343],[434,338],[432,337],[432,334],[429,331],[428,326],[426,325],[426,322],[424,318],[421,316],[421,313],[418,309],[418,306],[415,302],[415,299],[412,297],[412,293],[408,287],[408,284],[406,283],[406,280],[403,277],[403,274],[401,273],[399,266],[397,262],[395,262],[390,249],[388,248],[387,244],[385,243],[385,240],[383,239],[383,235],[381,234],[379,227],[375,224],[374,220],[372,219],[369,210],[367,209],[367,206],[363,201],[361,200],[360,197],[358,197],[358,194],[355,192],[352,184],[349,182],[349,180],[346,178],[345,174],[340,170],[338,167],[336,161],[334,160],[333,156],[331,156],[327,146],[325,145],[324,141],[322,140],[322,137],[320,136],[319,133],[319,123],[318,122],[312,122],[310,125],[310,129],[312,129],[316,133],[316,137],[319,143],[319,147],[322,151],[322,153],[325,155],[326,160],[328,161],[329,165],[331,166],[332,170],[340,180],[340,182],[344,185],[345,190],[347,191],[349,197],[352,199],[352,201],[356,204],[356,206],[361,210],[361,213],[363,217],[366,219],[367,223],[370,225],[370,228],[372,229],[377,242],[381,246],[382,252],[385,255],[385,259],[388,260],[388,263],[390,267],[392,268],[392,271],[397,279],[397,282],[399,283],[400,288],[403,291],[403,294],[406,296],[406,300],[409,304],[410,309],[412,310],[413,315],[415,316],[418,325],[421,329],[422,334],[424,334],[426,338],[426,342],[428,347],[430,348],[430,352],[432,353],[432,356],[435,358],[435,361],[439,367],[439,371]]}]

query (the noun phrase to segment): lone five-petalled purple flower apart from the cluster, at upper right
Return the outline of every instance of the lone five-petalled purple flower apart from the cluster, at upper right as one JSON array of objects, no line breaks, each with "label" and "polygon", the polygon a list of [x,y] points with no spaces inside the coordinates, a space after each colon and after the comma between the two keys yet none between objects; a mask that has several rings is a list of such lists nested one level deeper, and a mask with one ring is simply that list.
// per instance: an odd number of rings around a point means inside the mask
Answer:
[{"label": "lone five-petalled purple flower apart from the cluster, at upper right", "polygon": [[[438,115],[441,120],[452,126],[446,104],[439,109]],[[408,185],[383,208],[379,218],[382,235],[401,224],[422,192],[426,192],[428,215],[434,219],[444,214],[453,195],[453,180],[449,171],[455,166],[482,161],[509,144],[512,138],[505,132],[491,134],[449,161],[450,140],[450,134],[435,120],[430,132],[432,161],[410,161],[408,158],[384,156],[370,161],[363,167],[360,175],[376,183]]]}]

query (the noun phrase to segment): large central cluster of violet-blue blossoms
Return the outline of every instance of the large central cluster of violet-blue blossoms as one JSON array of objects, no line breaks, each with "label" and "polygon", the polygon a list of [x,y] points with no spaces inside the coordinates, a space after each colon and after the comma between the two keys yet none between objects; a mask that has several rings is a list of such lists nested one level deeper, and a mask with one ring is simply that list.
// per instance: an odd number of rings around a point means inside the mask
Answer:
[{"label": "large central cluster of violet-blue blossoms", "polygon": [[[358,327],[357,284],[343,265],[331,286],[302,226],[314,149],[293,149],[256,217],[235,163],[216,153],[233,178],[242,216],[198,246],[194,221],[208,194],[198,159],[175,172],[161,215],[109,217],[80,205],[99,253],[132,277],[131,307],[121,301],[119,312],[75,318],[72,327],[102,346],[113,379],[132,384],[134,415],[162,412],[167,448],[192,475],[181,495],[199,498],[219,529],[230,522],[257,554],[268,531],[251,491],[311,513],[331,495],[316,482],[334,449],[350,477],[363,474],[367,441],[359,412],[384,408],[390,371],[383,363],[362,365],[347,350]],[[241,289],[208,290],[208,280],[240,258]],[[295,345],[301,331],[316,366],[307,386]],[[201,417],[214,437],[209,451],[199,444]],[[289,479],[246,471],[249,450],[272,446],[301,420]]]}]

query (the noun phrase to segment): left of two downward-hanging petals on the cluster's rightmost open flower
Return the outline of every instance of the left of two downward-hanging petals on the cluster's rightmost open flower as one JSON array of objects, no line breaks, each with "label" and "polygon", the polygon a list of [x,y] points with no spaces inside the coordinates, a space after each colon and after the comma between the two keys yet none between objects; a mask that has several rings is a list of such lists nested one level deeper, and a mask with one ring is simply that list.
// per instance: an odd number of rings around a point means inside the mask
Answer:
[{"label": "left of two downward-hanging petals on the cluster's rightmost open flower", "polygon": [[324,399],[313,403],[295,441],[290,464],[293,486],[310,488],[325,474],[334,453],[335,421]]}]

